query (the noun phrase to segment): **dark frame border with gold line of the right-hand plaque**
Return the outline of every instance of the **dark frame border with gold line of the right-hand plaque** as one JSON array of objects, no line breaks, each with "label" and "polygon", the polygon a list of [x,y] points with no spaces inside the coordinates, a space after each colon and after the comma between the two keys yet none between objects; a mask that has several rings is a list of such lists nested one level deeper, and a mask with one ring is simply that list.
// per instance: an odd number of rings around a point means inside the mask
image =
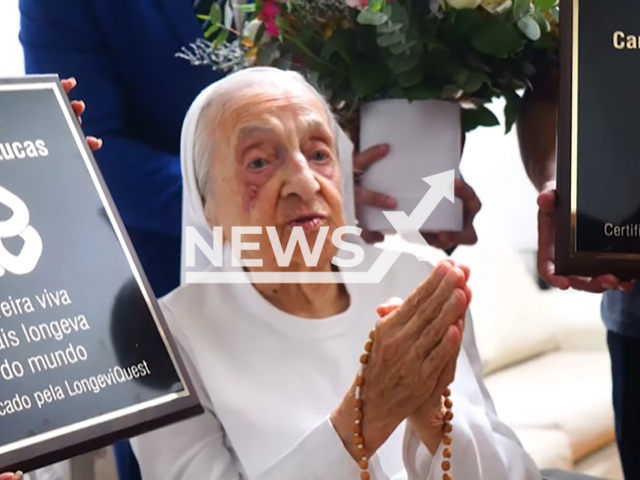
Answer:
[{"label": "dark frame border with gold line of the right-hand plaque", "polygon": [[579,15],[580,0],[560,0],[555,273],[589,277],[613,274],[622,280],[635,279],[640,277],[640,254],[577,250]]}]

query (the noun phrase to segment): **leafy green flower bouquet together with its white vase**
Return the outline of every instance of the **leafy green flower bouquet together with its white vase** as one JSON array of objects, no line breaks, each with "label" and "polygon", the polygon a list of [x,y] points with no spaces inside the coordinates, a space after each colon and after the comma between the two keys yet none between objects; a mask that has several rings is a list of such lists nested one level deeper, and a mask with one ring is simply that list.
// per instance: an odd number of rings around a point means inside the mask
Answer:
[{"label": "leafy green flower bouquet together with its white vase", "polygon": [[[407,213],[424,196],[422,177],[457,170],[462,132],[500,123],[487,104],[505,100],[508,132],[519,92],[540,65],[557,61],[558,0],[237,1],[214,4],[202,17],[205,38],[179,55],[225,72],[270,65],[304,73],[361,149],[391,145],[397,158],[372,167],[366,186],[400,196]],[[403,183],[389,185],[399,169]],[[441,206],[444,224],[432,229],[456,230],[460,208]],[[366,226],[388,227],[376,214]]]}]

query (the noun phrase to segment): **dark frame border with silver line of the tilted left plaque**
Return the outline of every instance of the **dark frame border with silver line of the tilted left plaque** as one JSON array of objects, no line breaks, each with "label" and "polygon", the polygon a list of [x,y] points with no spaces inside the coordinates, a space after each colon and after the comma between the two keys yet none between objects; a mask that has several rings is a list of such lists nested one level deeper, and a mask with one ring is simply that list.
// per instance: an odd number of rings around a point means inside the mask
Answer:
[{"label": "dark frame border with silver line of the tilted left plaque", "polygon": [[0,91],[24,91],[29,89],[53,90],[93,181],[94,188],[100,197],[120,247],[129,263],[131,272],[171,357],[183,390],[108,412],[91,419],[82,420],[28,439],[2,445],[0,446],[0,472],[33,471],[52,463],[109,446],[118,440],[135,437],[204,412],[185,364],[178,354],[177,346],[171,335],[167,334],[169,328],[166,320],[153,295],[151,285],[142,269],[140,260],[133,248],[95,157],[86,142],[82,127],[71,107],[71,102],[62,87],[60,77],[52,74],[0,78]]}]

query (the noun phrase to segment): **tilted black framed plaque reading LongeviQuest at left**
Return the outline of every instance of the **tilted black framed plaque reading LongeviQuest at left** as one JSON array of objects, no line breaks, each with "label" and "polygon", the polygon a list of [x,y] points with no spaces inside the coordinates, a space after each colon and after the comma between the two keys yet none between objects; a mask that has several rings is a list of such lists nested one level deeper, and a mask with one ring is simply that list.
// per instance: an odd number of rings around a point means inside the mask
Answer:
[{"label": "tilted black framed plaque reading LongeviQuest at left", "polygon": [[201,411],[58,78],[0,80],[0,472]]}]

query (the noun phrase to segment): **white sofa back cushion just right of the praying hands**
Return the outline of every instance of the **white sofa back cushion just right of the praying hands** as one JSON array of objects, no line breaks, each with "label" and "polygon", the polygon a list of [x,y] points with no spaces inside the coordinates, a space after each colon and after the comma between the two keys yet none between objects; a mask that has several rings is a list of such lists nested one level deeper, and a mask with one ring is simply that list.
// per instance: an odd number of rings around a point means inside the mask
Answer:
[{"label": "white sofa back cushion just right of the praying hands", "polygon": [[533,276],[490,217],[475,221],[478,243],[458,247],[456,261],[471,269],[476,342],[485,374],[558,348],[553,323]]}]

